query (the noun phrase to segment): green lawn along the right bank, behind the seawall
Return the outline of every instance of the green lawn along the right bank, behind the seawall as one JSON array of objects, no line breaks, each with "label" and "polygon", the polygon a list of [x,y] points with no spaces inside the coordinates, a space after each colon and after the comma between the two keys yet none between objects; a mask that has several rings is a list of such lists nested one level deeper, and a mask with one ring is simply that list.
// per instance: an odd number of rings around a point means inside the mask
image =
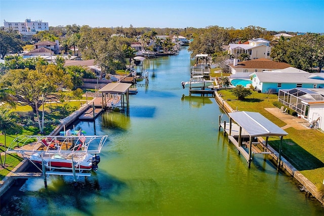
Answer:
[{"label": "green lawn along the right bank, behind the seawall", "polygon": [[[221,90],[225,100],[230,99],[227,103],[239,111],[259,112],[279,127],[285,126],[286,123],[276,116],[272,115],[264,108],[275,107],[272,102],[277,101],[276,95],[267,95],[254,92],[244,101],[235,100],[230,90]],[[269,98],[268,98],[269,97]],[[324,133],[316,129],[297,130],[293,127],[285,129],[289,134],[284,137],[282,143],[282,156],[285,157],[296,169],[316,185],[322,187],[324,180]],[[269,138],[269,145],[276,151],[279,150],[279,139]]]}]

